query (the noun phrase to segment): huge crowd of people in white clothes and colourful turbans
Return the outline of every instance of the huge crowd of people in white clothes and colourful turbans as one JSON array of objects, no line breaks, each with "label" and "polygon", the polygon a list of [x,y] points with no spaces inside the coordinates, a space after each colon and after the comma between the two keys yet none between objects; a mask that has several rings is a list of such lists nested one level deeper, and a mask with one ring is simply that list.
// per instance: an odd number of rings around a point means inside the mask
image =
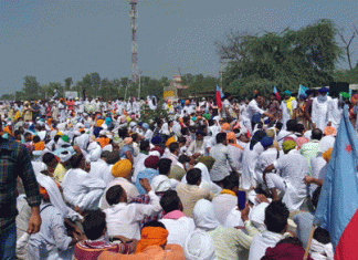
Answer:
[{"label": "huge crowd of people in white clothes and colourful turbans", "polygon": [[[358,111],[327,92],[1,102],[0,258],[303,259],[344,105]],[[307,259],[333,254],[316,228]]]}]

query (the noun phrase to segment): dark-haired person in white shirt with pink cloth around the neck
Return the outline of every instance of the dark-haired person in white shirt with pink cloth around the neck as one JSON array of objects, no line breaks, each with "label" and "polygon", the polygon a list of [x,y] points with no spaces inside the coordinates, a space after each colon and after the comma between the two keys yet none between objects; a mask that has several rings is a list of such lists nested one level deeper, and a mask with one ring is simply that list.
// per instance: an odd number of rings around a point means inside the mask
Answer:
[{"label": "dark-haired person in white shirt with pink cloth around the neck", "polygon": [[196,229],[192,218],[182,212],[182,204],[175,190],[167,190],[160,199],[160,206],[166,212],[160,222],[168,231],[168,243],[178,243],[183,247],[189,233]]}]

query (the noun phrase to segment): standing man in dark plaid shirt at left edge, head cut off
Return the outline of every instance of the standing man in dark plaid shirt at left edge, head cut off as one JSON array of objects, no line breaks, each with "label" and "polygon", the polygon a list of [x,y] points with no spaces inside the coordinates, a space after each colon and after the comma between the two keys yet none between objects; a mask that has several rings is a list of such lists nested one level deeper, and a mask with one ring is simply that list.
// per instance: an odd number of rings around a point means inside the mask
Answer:
[{"label": "standing man in dark plaid shirt at left edge, head cut off", "polygon": [[[1,119],[0,119],[1,131]],[[30,154],[20,143],[0,137],[0,259],[15,259],[17,246],[17,183],[22,179],[27,200],[31,207],[28,233],[40,230],[39,185],[31,165]]]}]

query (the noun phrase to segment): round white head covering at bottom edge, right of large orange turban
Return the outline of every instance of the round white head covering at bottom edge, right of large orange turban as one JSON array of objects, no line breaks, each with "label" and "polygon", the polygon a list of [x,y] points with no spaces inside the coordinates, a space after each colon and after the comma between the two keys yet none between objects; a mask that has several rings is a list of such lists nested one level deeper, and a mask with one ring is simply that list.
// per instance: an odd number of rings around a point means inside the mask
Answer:
[{"label": "round white head covering at bottom edge, right of large orange turban", "polygon": [[187,260],[215,259],[215,246],[212,238],[200,229],[188,236],[183,245],[183,252]]}]

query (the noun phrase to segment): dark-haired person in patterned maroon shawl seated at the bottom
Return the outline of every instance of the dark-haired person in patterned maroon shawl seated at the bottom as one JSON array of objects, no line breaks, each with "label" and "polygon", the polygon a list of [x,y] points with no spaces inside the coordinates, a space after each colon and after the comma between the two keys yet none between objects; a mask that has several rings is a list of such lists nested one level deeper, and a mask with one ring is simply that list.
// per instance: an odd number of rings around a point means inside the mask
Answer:
[{"label": "dark-haired person in patterned maroon shawl seated at the bottom", "polygon": [[[83,220],[83,229],[87,240],[76,243],[74,248],[75,259],[95,260],[104,251],[133,253],[136,250],[138,240],[128,240],[125,237],[106,236],[106,215],[101,210],[88,211]],[[119,240],[122,243],[110,242],[110,240]]]}]

